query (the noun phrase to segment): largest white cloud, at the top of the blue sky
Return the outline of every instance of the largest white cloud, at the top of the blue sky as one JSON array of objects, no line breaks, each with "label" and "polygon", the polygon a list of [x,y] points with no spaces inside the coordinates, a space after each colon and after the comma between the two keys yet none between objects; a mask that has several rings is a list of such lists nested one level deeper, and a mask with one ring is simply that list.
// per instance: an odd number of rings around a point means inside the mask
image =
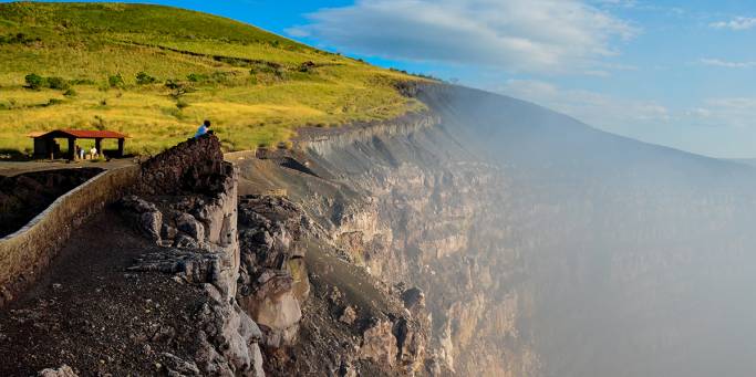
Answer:
[{"label": "largest white cloud, at the top of the blue sky", "polygon": [[518,72],[596,72],[638,30],[581,0],[359,0],[290,29],[389,59]]}]

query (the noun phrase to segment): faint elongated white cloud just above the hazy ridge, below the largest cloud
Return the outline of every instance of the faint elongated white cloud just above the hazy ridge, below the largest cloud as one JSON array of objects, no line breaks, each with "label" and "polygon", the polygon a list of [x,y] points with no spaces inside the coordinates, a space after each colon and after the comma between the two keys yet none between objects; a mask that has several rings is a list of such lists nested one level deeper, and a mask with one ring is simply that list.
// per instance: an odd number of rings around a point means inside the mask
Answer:
[{"label": "faint elongated white cloud just above the hazy ridge, below the largest cloud", "polygon": [[535,102],[589,125],[622,134],[639,124],[655,125],[672,119],[670,111],[655,102],[565,90],[541,81],[510,80],[497,92]]}]

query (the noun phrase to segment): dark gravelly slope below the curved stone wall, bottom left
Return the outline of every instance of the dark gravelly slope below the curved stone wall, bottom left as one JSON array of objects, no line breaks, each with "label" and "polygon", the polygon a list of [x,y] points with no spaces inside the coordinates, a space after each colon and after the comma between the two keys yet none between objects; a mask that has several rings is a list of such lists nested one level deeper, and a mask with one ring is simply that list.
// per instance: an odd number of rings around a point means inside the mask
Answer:
[{"label": "dark gravelly slope below the curved stone wall, bottom left", "polygon": [[193,354],[197,289],[125,271],[153,248],[113,210],[82,226],[45,276],[0,310],[0,376],[63,364],[81,376],[160,375],[162,353]]}]

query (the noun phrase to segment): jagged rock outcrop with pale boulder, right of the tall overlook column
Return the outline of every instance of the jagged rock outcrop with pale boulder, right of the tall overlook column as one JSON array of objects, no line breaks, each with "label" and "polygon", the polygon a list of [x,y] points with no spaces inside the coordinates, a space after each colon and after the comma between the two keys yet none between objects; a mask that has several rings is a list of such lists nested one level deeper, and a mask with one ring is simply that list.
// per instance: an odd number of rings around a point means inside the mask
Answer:
[{"label": "jagged rock outcrop with pale boulder, right of the tall overlook column", "polygon": [[310,283],[303,263],[305,233],[314,229],[303,211],[276,197],[239,202],[241,276],[237,297],[262,327],[269,347],[292,345]]}]

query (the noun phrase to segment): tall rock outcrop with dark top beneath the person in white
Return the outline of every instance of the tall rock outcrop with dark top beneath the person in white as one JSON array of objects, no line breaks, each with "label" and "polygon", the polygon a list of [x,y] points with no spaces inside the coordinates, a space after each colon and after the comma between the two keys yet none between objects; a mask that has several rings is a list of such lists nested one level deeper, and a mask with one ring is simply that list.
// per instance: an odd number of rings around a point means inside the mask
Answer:
[{"label": "tall rock outcrop with dark top beneath the person in white", "polygon": [[[159,195],[157,195],[159,193]],[[162,248],[144,254],[130,271],[160,271],[203,286],[199,347],[193,359],[170,355],[179,375],[262,376],[258,324],[236,300],[240,271],[237,232],[237,172],[222,161],[213,136],[179,144],[143,165],[134,195],[122,212]]]}]

